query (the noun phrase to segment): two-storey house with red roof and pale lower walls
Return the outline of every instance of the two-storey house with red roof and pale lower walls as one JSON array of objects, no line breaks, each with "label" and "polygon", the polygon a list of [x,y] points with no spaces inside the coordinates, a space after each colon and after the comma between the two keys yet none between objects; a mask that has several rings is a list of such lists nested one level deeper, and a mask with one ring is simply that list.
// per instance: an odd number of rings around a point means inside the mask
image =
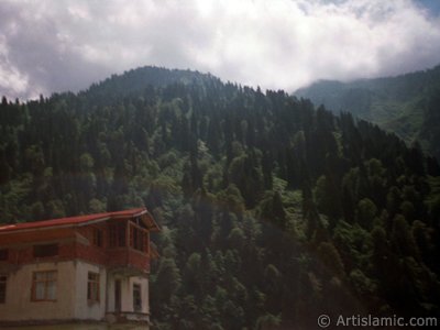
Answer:
[{"label": "two-storey house with red roof and pale lower walls", "polygon": [[157,230],[145,208],[0,227],[0,328],[147,329]]}]

